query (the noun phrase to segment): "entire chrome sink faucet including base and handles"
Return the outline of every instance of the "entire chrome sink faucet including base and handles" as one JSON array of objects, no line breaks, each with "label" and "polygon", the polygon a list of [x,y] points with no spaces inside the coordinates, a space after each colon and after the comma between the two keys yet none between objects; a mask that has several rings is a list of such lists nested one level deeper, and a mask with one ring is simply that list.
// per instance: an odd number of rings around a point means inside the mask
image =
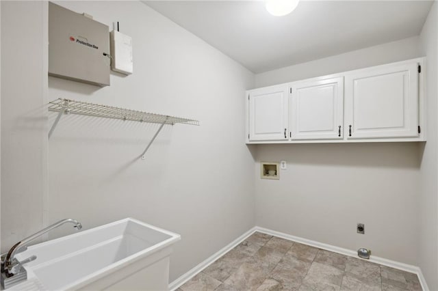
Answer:
[{"label": "entire chrome sink faucet including base and handles", "polygon": [[[30,262],[31,260],[35,260],[36,256],[32,256],[29,259],[24,260],[23,262],[18,262],[16,260],[15,255],[16,253],[19,253],[21,251],[25,251],[25,248],[29,243],[36,240],[36,238],[42,236],[43,234],[46,234],[47,232],[50,232],[51,230],[55,229],[56,227],[60,227],[64,223],[73,223],[73,227],[77,228],[77,230],[80,230],[82,228],[81,223],[75,219],[62,219],[58,221],[57,223],[53,223],[52,225],[49,225],[48,227],[44,228],[43,230],[40,230],[39,232],[36,232],[35,234],[32,234],[31,236],[28,236],[27,238],[24,238],[23,240],[20,240],[18,243],[13,245],[11,249],[8,251],[6,255],[1,256],[1,285],[3,288],[9,288],[12,285],[15,285],[19,281],[23,281],[21,279],[24,277],[24,280],[27,279],[27,274],[25,269],[23,268],[22,263],[24,264],[24,261]],[[24,272],[24,274],[23,274]],[[20,277],[18,278],[12,278],[14,276]],[[10,280],[8,280],[10,279]],[[7,284],[8,281],[11,281],[12,285]],[[8,286],[9,285],[9,286]],[[8,286],[8,287],[7,287]]]}]

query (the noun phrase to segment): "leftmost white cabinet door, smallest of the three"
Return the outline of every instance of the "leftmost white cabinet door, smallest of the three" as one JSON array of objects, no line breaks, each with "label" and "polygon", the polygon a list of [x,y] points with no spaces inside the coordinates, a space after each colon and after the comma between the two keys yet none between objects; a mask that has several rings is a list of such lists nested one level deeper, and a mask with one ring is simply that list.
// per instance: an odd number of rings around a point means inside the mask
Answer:
[{"label": "leftmost white cabinet door, smallest of the three", "polygon": [[255,89],[249,94],[249,140],[287,140],[287,85]]}]

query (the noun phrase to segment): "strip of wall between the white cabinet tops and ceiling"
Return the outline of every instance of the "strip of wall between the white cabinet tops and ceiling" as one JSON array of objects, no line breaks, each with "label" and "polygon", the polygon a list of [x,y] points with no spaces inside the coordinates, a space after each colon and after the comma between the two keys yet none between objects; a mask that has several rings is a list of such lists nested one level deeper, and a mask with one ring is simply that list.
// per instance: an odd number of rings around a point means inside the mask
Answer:
[{"label": "strip of wall between the white cabinet tops and ceiling", "polygon": [[418,36],[406,38],[396,42],[388,42],[378,46],[371,46],[357,51],[342,53],[324,59],[307,61],[255,75],[256,87],[265,87],[279,83],[286,83],[311,77],[324,76],[337,72],[345,72],[359,68],[377,66],[413,59],[419,56],[420,40]]}]

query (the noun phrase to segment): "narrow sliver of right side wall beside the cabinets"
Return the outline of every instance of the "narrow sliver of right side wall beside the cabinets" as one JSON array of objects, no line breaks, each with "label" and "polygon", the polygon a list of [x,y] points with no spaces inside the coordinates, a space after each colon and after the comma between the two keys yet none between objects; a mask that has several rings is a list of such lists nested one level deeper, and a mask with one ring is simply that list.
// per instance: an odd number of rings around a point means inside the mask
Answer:
[{"label": "narrow sliver of right side wall beside the cabinets", "polygon": [[438,290],[438,5],[435,2],[421,33],[422,52],[426,59],[428,137],[420,168],[420,241],[418,264],[430,290]]}]

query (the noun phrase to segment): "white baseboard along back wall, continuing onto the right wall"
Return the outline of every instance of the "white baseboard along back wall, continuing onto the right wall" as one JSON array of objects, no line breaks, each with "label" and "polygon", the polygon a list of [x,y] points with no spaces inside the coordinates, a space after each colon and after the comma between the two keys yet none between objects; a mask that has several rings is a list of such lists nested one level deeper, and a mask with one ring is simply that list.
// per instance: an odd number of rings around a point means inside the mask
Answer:
[{"label": "white baseboard along back wall, continuing onto the right wall", "polygon": [[[318,249],[325,249],[326,251],[333,251],[333,253],[340,253],[342,255],[348,255],[350,257],[361,259],[357,256],[356,251],[352,251],[350,249],[344,249],[342,247],[335,247],[333,245],[327,245],[325,243],[319,243],[315,240],[308,240],[307,238],[300,238],[298,236],[292,236],[290,234],[285,234],[283,232],[276,232],[275,230],[268,230],[267,228],[263,227],[255,227],[256,232],[263,232],[263,234],[270,234],[271,236],[278,236],[279,238],[285,238],[286,240],[292,240],[296,243],[302,243],[304,245],[309,245],[311,247],[318,247]],[[391,268],[396,268],[402,271],[407,271],[409,273],[415,273],[418,276],[418,279],[420,280],[420,283],[422,285],[422,288],[424,291],[429,291],[429,288],[426,283],[426,279],[424,279],[423,273],[420,269],[420,267],[404,264],[401,262],[396,262],[393,260],[387,260],[385,258],[376,257],[375,255],[372,255],[370,260],[366,260],[368,262],[373,262],[376,264],[380,264],[383,266],[389,266]]]}]

